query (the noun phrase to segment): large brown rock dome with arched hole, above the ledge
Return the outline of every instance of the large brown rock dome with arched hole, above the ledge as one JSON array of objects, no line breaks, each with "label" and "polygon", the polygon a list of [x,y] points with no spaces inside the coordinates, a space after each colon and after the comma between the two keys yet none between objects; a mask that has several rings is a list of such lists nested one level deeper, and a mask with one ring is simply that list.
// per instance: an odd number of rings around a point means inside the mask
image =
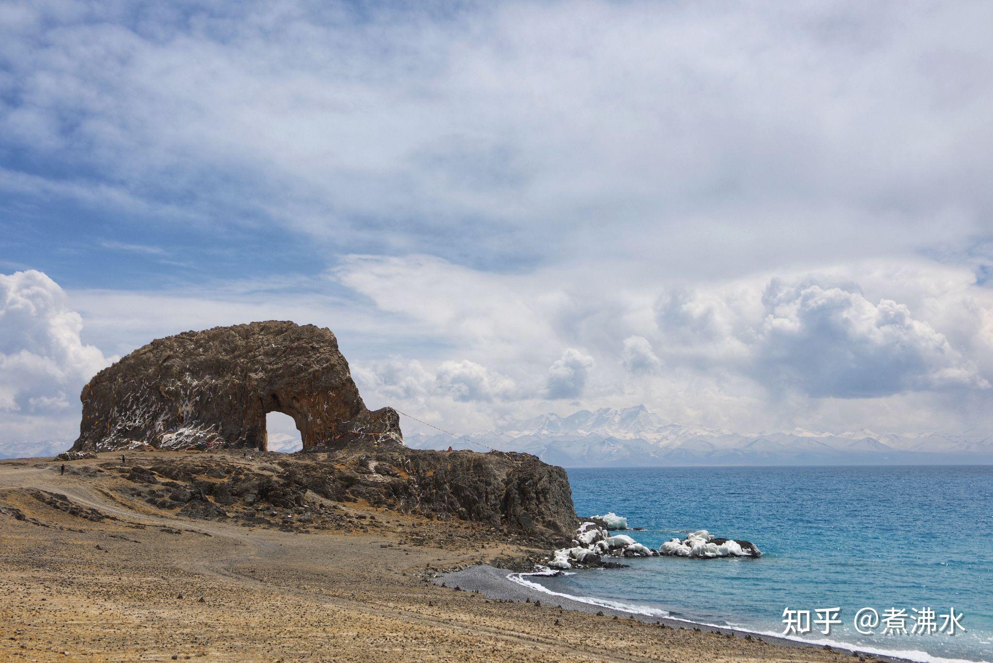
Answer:
[{"label": "large brown rock dome with arched hole, above the ledge", "polygon": [[399,417],[370,412],[328,329],[253,322],[135,350],[82,390],[75,450],[267,448],[265,414],[289,414],[304,450],[400,447]]}]

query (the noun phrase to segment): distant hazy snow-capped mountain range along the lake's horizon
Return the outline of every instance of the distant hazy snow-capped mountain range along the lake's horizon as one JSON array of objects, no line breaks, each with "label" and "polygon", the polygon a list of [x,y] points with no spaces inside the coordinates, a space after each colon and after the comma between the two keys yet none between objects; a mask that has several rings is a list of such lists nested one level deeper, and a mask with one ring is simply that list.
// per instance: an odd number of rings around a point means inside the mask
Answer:
[{"label": "distant hazy snow-capped mountain range along the lake's horizon", "polygon": [[404,442],[422,449],[451,445],[524,451],[567,467],[993,463],[993,435],[986,431],[909,435],[796,428],[739,433],[672,423],[644,406],[542,414],[458,439],[408,433]]}]

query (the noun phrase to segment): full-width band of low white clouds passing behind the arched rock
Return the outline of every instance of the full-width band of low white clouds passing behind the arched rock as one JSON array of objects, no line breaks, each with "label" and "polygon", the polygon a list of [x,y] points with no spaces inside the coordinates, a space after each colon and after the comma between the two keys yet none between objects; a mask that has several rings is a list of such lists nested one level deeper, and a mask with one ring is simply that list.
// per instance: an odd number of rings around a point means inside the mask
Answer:
[{"label": "full-width band of low white clouds passing behind the arched rock", "polygon": [[[118,353],[216,324],[327,326],[366,405],[457,432],[566,414],[573,401],[644,403],[670,420],[753,431],[993,425],[984,405],[993,290],[965,268],[874,262],[669,287],[633,277],[619,287],[583,270],[495,274],[423,256],[345,263],[340,280],[307,283],[313,292],[250,282],[75,290],[71,304],[44,274],[4,276],[5,300],[17,302],[5,305],[0,341],[17,371],[0,380],[5,423],[19,426],[8,435],[73,434],[78,390],[107,359],[79,340],[71,309],[88,337]],[[342,281],[358,288],[352,297],[320,291]],[[416,427],[404,419],[404,430]]]}]

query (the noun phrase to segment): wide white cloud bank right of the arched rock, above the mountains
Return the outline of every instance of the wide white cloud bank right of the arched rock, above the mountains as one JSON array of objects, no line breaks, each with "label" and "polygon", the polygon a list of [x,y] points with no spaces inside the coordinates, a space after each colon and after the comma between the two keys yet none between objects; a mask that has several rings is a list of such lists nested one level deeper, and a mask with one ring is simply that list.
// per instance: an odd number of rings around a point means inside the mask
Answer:
[{"label": "wide white cloud bank right of the arched rock, above the mountains", "polygon": [[[584,270],[494,274],[421,256],[347,264],[340,278],[438,346],[418,408],[446,410],[439,399],[452,393],[437,393],[437,367],[461,354],[477,367],[509,367],[518,412],[580,399],[644,402],[673,420],[752,430],[856,427],[844,416],[870,427],[988,420],[965,404],[993,379],[993,290],[966,268],[874,262],[666,287],[637,277],[618,284],[618,272],[611,280]],[[543,370],[556,345],[570,350]],[[499,416],[488,383],[473,384],[460,388],[464,398]],[[914,396],[922,393],[931,396]],[[942,396],[952,393],[958,406]]]}]

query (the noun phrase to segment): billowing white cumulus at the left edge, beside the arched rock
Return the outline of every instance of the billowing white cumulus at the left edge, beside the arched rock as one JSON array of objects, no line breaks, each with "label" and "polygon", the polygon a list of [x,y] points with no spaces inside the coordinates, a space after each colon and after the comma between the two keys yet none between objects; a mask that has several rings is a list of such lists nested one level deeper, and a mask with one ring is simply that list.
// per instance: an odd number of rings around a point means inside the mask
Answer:
[{"label": "billowing white cumulus at the left edge, beside the arched rock", "polygon": [[[0,274],[0,441],[71,435],[79,391],[112,358],[82,343],[82,319],[46,274]],[[44,420],[43,420],[44,419]]]}]

